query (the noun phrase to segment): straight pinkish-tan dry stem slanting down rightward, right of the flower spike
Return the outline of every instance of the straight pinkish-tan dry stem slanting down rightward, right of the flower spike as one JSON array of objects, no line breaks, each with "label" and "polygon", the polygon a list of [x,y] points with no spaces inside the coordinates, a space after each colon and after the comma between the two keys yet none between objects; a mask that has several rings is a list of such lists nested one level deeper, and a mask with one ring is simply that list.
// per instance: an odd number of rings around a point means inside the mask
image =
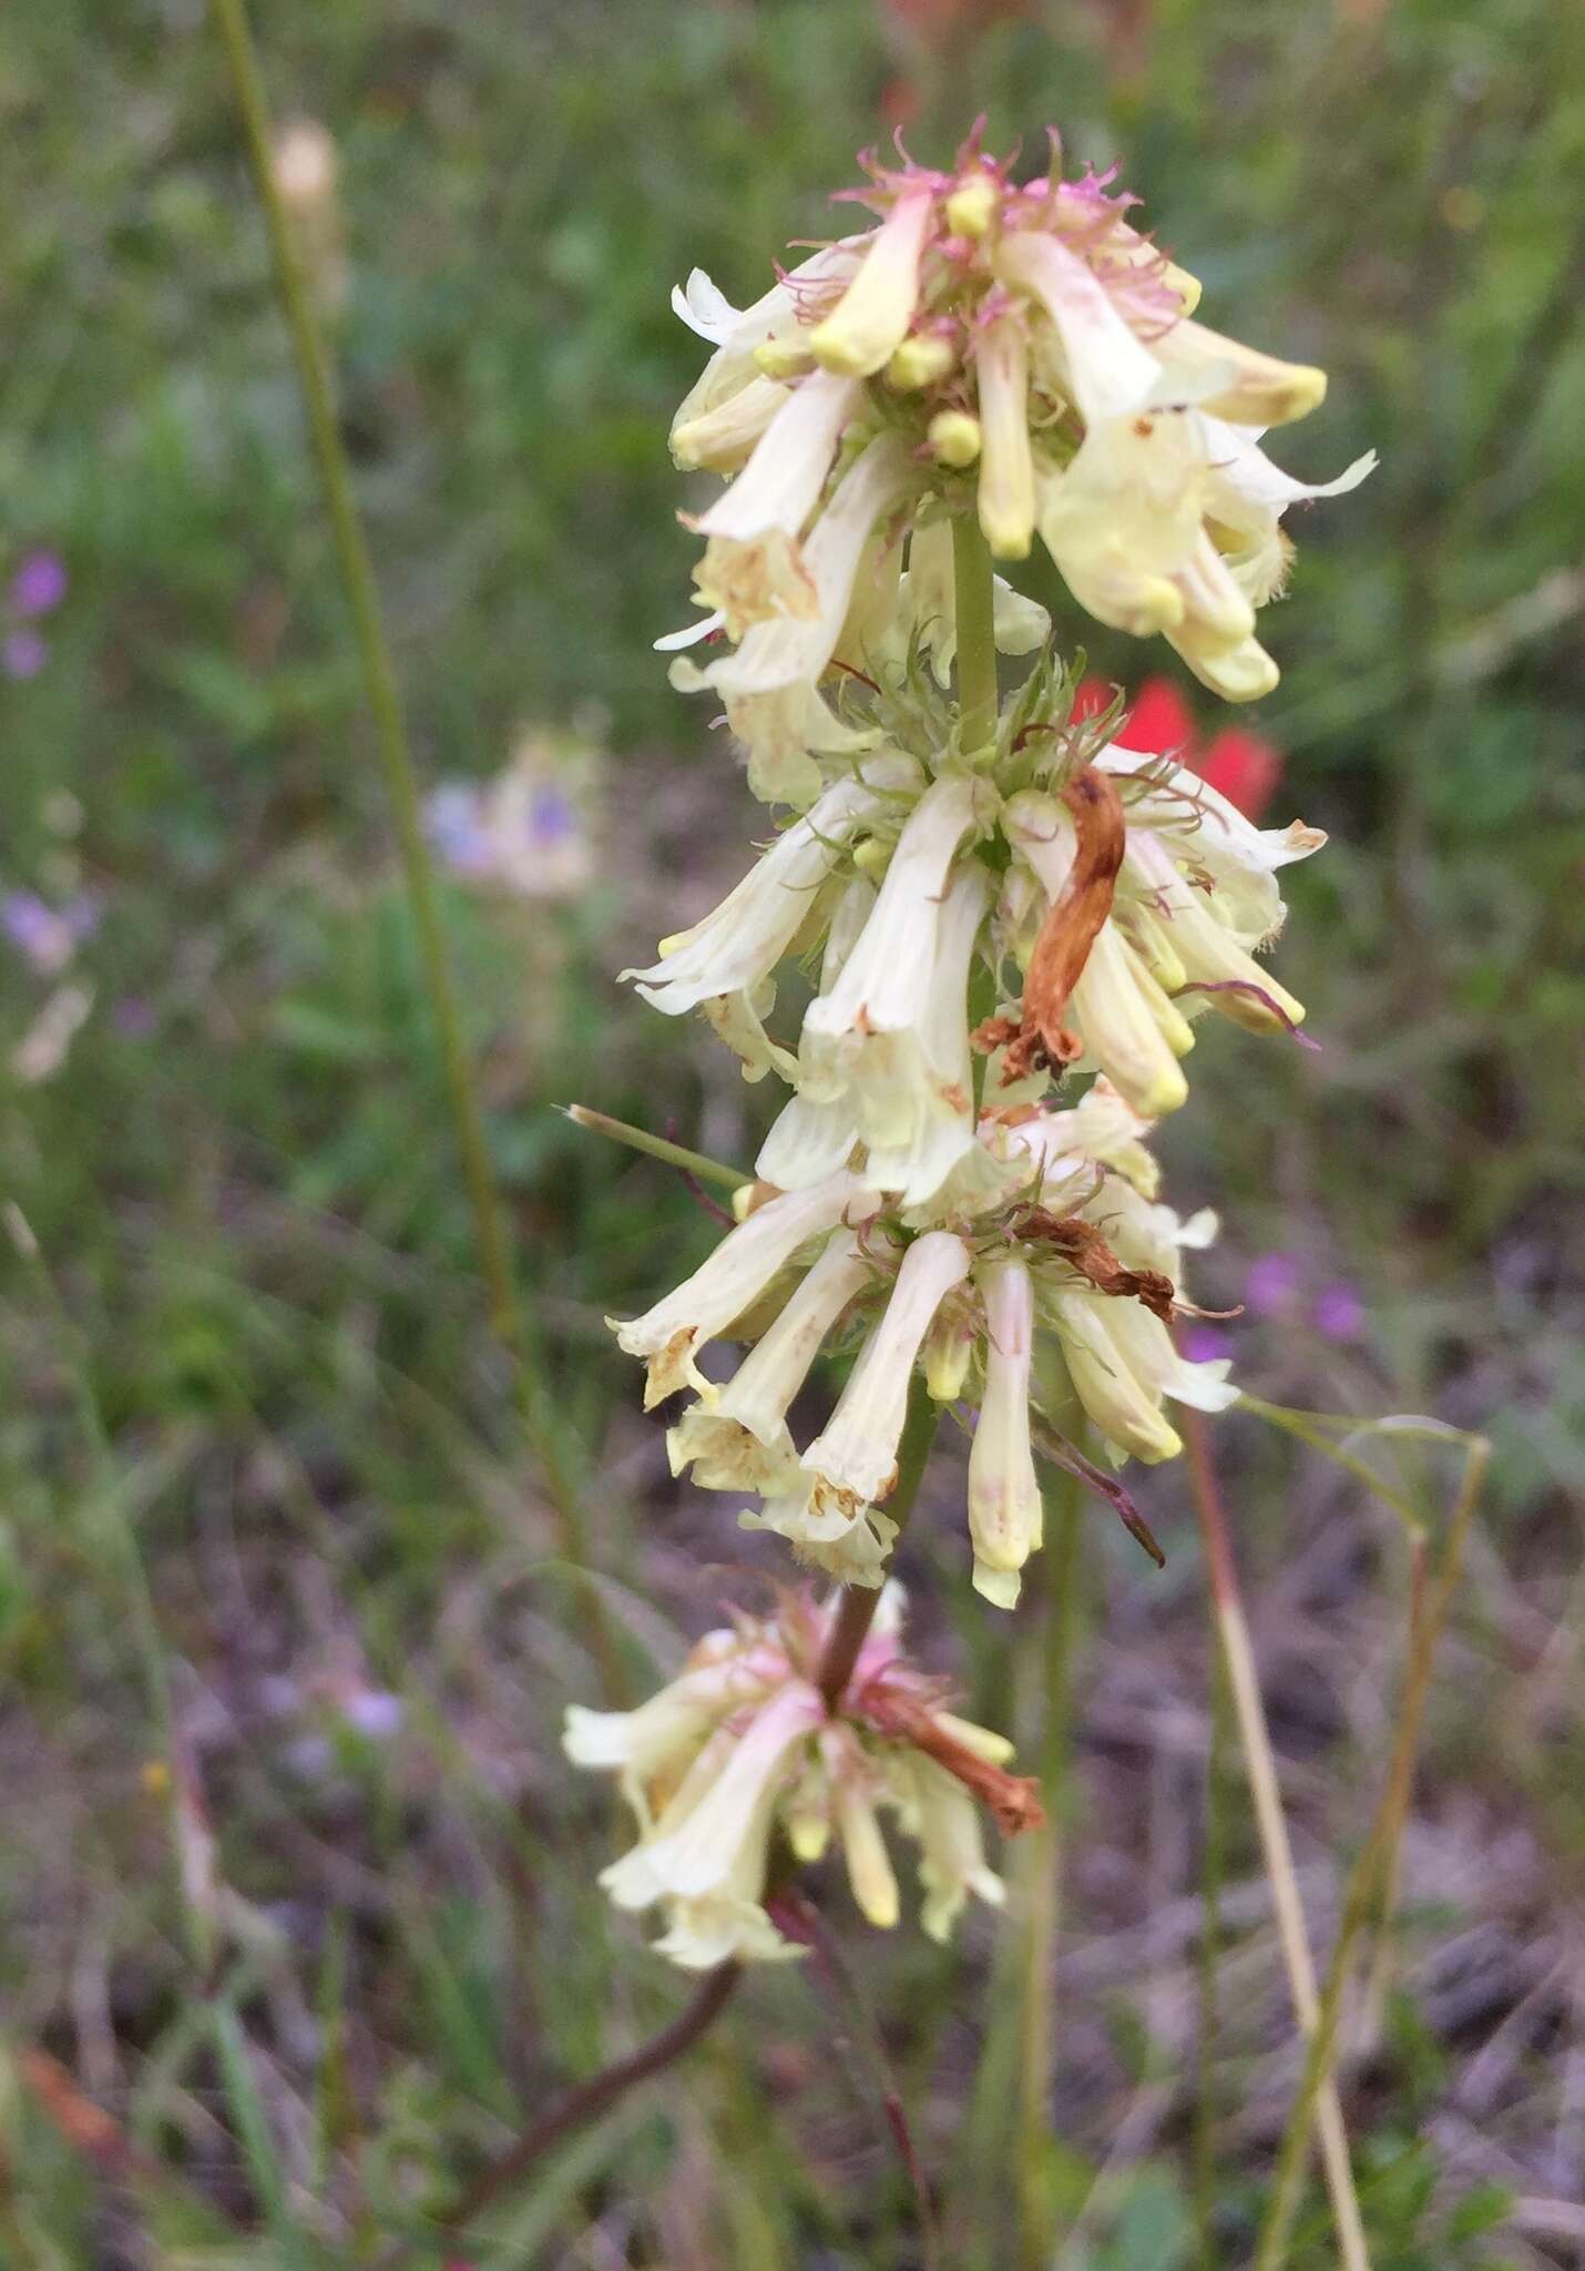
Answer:
[{"label": "straight pinkish-tan dry stem slanting down rightward, right of the flower spike", "polygon": [[[1265,1724],[1265,1708],[1260,1703],[1260,1678],[1256,1674],[1256,1653],[1249,1640],[1249,1619],[1244,1617],[1244,1599],[1238,1585],[1238,1569],[1233,1567],[1233,1542],[1228,1535],[1226,1510],[1222,1506],[1222,1492],[1217,1488],[1215,1465],[1210,1460],[1206,1422],[1199,1413],[1183,1410],[1183,1435],[1190,1453],[1199,1535],[1206,1549],[1210,1601],[1217,1619],[1217,1635],[1222,1640],[1228,1685],[1233,1690],[1238,1735],[1244,1751],[1249,1796],[1253,1799],[1260,1851],[1272,1883],[1276,1937],[1283,1949],[1294,2017],[1299,2019],[1299,2030],[1308,2042],[1319,2026],[1315,1958],[1310,1955],[1303,1903],[1299,1901],[1299,1876],[1294,1871],[1294,1855],[1288,1842],[1288,1821],[1283,1819],[1283,1796],[1276,1780],[1272,1733]],[[1344,2271],[1369,2271],[1365,2223],[1360,2219],[1360,2201],[1353,2189],[1353,2169],[1349,2164],[1349,2132],[1342,2123],[1337,2087],[1331,2080],[1317,2083],[1315,2089],[1315,2135],[1319,2139],[1326,2189],[1331,2194],[1333,2221],[1337,2226],[1340,2262]]]}]

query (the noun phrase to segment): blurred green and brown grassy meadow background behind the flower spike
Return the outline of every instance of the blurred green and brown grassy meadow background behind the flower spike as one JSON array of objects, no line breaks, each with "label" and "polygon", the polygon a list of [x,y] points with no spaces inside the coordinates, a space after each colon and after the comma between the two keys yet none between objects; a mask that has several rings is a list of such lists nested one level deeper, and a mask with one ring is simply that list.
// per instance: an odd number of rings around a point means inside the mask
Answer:
[{"label": "blurred green and brown grassy meadow background behind the flower spike", "polygon": [[[456,883],[447,917],[636,1667],[670,1662],[713,1612],[722,1565],[774,1569],[665,1481],[599,1326],[708,1226],[659,1170],[552,1113],[577,1095],[733,1158],[768,1117],[711,1047],[613,983],[681,897],[702,906],[731,879],[754,829],[649,654],[688,590],[663,431],[697,343],[670,286],[697,261],[756,293],[786,238],[824,227],[824,191],[883,116],[906,109],[929,157],[981,107],[992,143],[1029,150],[1056,118],[1074,157],[1124,161],[1210,320],[1333,372],[1283,461],[1324,477],[1381,450],[1378,475],[1301,529],[1272,631],[1283,686],[1258,718],[1288,756],[1278,808],[1333,831],[1297,874],[1283,947],[1324,1054],[1238,1036],[1199,1051],[1167,1156],[1183,1199],[1224,1215],[1208,1301],[1238,1301],[1247,1265],[1281,1251],[1365,1306],[1342,1347],[1281,1319],[1235,1326],[1253,1388],[1496,1438],[1410,1840],[1403,1985],[1351,2112],[1378,2266],[1569,2262],[1565,2210],[1585,2187],[1585,1980],[1558,1926],[1585,1860],[1585,61],[1569,11],[1072,5],[931,48],[856,0],[688,0],[663,18],[636,0],[277,0],[257,30],[279,111],[338,143],[343,431],[422,770],[493,774],[525,720],[606,747],[595,881],[511,913]],[[45,547],[70,575],[45,665],[0,679],[0,886],[100,902],[73,965],[93,1008],[52,1079],[11,1086],[0,1174],[114,1444],[98,1472],[70,1349],[7,1279],[0,2244],[25,2271],[377,2262],[445,2171],[674,1987],[599,1914],[609,1808],[556,1753],[561,1706],[595,1685],[579,1581],[552,1558],[481,1329],[202,7],[14,0],[0,127],[0,565]],[[1160,668],[1090,625],[1083,638],[1101,672]],[[2,974],[11,1056],[50,986],[9,949]],[[1358,1835],[1381,1755],[1397,1562],[1356,1492],[1247,1438],[1231,1431],[1228,1467],[1324,1917],[1324,1855]],[[216,1837],[218,1985],[177,1933],[107,1492],[150,1572]],[[1154,1478],[1149,1508],[1163,1583],[1099,1533],[1085,1553],[1067,1935],[1095,1985],[1060,1989],[1070,2144],[1051,2185],[1067,2214],[1088,2203],[1063,2262],[1092,2271],[1169,2271],[1192,2248],[1172,2089],[1097,2185],[1117,2123],[1181,2069],[1190,1994],[1163,1919],[1194,1889],[1204,1642],[1181,1483]],[[983,1706],[1017,1703],[1029,1621],[1008,1651],[970,1610],[956,1528],[947,1490],[913,1549],[926,1646]],[[1242,1830],[1235,1862],[1251,1864]],[[1156,1951],[1144,1983],[1113,1960],[1131,1933]],[[863,1949],[926,2160],[956,2178],[965,2264],[1006,2260],[995,2101],[954,2162],[988,1949],[963,1964],[904,1935]],[[1238,1960],[1256,1985],[1224,2046],[1228,2260],[1290,2073],[1258,1901]],[[836,2023],[806,1983],[756,1980],[686,2089],[572,2146],[472,2260],[915,2262],[906,2182],[831,2058]],[[111,2167],[86,2185],[20,2078],[27,2044],[166,2178]],[[1499,2203],[1503,2235],[1481,2237],[1487,2185],[1542,2205],[1526,2223]],[[1319,2205],[1306,2232],[1294,2260],[1326,2264]]]}]

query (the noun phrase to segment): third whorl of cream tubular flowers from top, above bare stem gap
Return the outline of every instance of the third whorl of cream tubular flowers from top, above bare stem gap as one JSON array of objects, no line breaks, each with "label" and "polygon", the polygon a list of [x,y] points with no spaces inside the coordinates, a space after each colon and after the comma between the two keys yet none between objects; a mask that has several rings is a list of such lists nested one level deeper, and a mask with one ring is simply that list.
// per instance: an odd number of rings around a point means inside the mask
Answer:
[{"label": "third whorl of cream tubular flowers from top, above bare stem gap", "polygon": [[[1226,1360],[1179,1356],[1169,1317],[1188,1247],[1215,1235],[1156,1199],[1147,1124],[1106,1081],[1072,1111],[981,1115],[976,1174],[920,1226],[865,1172],[768,1195],[708,1260],[618,1340],[647,1360],[645,1401],[693,1401],[668,1433],[672,1469],[754,1494],[745,1528],[879,1585],[895,1537],[883,1510],[915,1372],[938,1403],[976,1406],[967,1469],[974,1585],[1010,1608],[1040,1544],[1035,1440],[1083,1413],[1122,1458],[1176,1456],[1163,1401],[1222,1410]],[[699,1354],[752,1340],[724,1383]],[[788,1413],[822,1349],[856,1347],[824,1428],[797,1449]]]}]

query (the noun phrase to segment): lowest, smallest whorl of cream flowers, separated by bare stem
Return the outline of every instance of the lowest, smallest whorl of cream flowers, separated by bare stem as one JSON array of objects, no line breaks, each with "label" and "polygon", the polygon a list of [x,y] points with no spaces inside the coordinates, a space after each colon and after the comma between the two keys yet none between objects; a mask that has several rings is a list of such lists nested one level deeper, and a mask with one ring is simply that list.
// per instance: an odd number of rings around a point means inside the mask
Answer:
[{"label": "lowest, smallest whorl of cream flowers, separated by bare stem", "polygon": [[897,1585],[831,1706],[817,1685],[829,1626],[831,1610],[790,1592],[774,1617],[706,1633],[638,1710],[568,1710],[568,1755],[618,1774],[638,1819],[602,1885],[618,1908],[661,1908],[656,1949],[688,1971],[799,1953],[765,1905],[777,1833],[802,1862],[836,1842],[861,1912],[892,1926],[892,1815],[920,1846],[920,1921],[945,1939],[970,1894],[1004,1899],[976,1805],[1010,1830],[1040,1821],[1033,1785],[1006,1771],[1013,1746],[949,1712],[942,1683],[901,1653]]}]

